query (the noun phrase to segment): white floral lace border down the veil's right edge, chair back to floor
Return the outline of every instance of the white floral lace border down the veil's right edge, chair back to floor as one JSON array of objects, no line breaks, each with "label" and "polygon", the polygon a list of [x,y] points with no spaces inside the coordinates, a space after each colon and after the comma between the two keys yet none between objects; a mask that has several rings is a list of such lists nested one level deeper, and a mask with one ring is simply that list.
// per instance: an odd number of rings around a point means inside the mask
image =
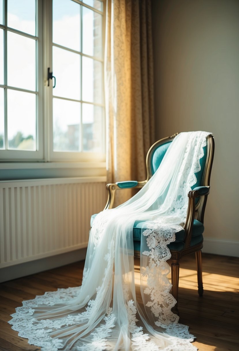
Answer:
[{"label": "white floral lace border down the veil's right edge, chair back to floor", "polygon": [[[197,137],[195,138],[195,142],[198,142]],[[184,218],[186,214],[187,199],[185,197],[187,196],[187,192],[196,183],[194,173],[199,172],[201,169],[200,158],[204,155],[204,146],[206,146],[206,139],[201,144],[199,154],[195,153],[192,147],[187,147],[186,149],[185,156],[187,157],[184,157],[183,166],[179,174],[180,184],[182,185],[179,187],[178,198],[175,202],[175,208],[173,208],[179,223],[180,218]],[[191,158],[188,157],[188,153],[191,153]],[[194,159],[193,162],[191,161],[192,159]],[[193,171],[185,172],[185,168],[190,168],[192,165],[194,167]],[[183,179],[184,174],[191,174],[191,178]],[[171,257],[168,245],[172,241],[175,241],[175,232],[183,228],[180,225],[170,226],[165,223],[167,223],[167,218],[148,222],[148,229],[143,232],[149,249],[142,252],[143,255],[149,257],[148,266],[145,269],[142,267],[142,276],[147,277],[147,287],[144,290],[144,294],[150,296],[150,300],[146,303],[146,306],[150,307],[151,312],[158,318],[155,324],[164,328],[167,335],[187,339],[187,342],[192,342],[194,337],[189,333],[188,326],[179,324],[179,317],[171,312],[172,307],[176,304],[176,300],[169,293],[172,285],[166,277],[170,272],[170,267],[166,261]],[[195,350],[196,348],[190,345],[189,349]],[[171,348],[166,350],[171,350]]]}]

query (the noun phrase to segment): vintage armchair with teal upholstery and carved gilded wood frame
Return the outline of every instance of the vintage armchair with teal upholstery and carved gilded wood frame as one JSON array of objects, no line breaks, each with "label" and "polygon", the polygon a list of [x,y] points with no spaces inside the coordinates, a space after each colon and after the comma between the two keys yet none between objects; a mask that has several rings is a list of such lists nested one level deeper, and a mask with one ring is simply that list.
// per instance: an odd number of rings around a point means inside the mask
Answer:
[{"label": "vintage armchair with teal upholstery and carved gilded wood frame", "polygon": [[[112,208],[116,190],[125,188],[142,188],[152,177],[159,167],[170,143],[178,133],[171,137],[163,138],[153,144],[146,156],[147,179],[145,181],[120,181],[115,184],[107,184],[109,191],[107,204],[104,209]],[[187,210],[184,229],[176,234],[176,241],[168,245],[171,252],[171,277],[172,295],[178,301],[178,281],[179,281],[179,260],[182,256],[195,252],[198,278],[198,294],[203,295],[202,280],[202,247],[203,247],[203,221],[207,202],[207,195],[210,190],[210,176],[214,155],[214,139],[212,135],[207,137],[207,145],[204,147],[204,156],[200,159],[201,170],[196,173],[197,183],[189,191],[189,205]],[[91,217],[91,224],[96,214]],[[135,257],[140,256],[141,231],[146,229],[144,221],[135,221],[133,229]],[[178,313],[177,305],[173,308]]]}]

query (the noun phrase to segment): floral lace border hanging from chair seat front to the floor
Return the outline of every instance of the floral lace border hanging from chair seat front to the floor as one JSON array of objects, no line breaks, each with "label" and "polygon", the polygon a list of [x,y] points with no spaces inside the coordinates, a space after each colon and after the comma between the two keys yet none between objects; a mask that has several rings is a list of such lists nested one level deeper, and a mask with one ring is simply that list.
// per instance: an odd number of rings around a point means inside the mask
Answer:
[{"label": "floral lace border hanging from chair seat front to the floor", "polygon": [[[152,226],[152,224],[150,225]],[[193,336],[188,332],[188,327],[178,323],[179,317],[171,312],[172,307],[176,304],[175,298],[169,293],[171,284],[166,275],[170,272],[170,268],[166,260],[170,258],[170,251],[167,244],[173,241],[173,229],[167,231],[169,233],[166,238],[165,231],[146,230],[143,235],[148,236],[147,244],[150,251],[144,251],[143,254],[149,256],[149,265],[143,270],[142,275],[147,277],[147,287],[144,290],[146,295],[150,296],[150,300],[146,306],[150,307],[152,313],[157,317],[155,324],[165,329],[167,335],[178,338],[186,338],[193,341]],[[164,245],[162,245],[162,240]],[[162,246],[163,250],[162,250]]]}]

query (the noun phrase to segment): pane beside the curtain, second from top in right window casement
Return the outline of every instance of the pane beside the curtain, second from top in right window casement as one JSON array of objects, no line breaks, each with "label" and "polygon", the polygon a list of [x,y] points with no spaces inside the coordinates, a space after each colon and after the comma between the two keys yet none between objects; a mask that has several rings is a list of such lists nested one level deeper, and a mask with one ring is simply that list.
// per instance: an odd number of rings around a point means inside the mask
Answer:
[{"label": "pane beside the curtain, second from top in right window casement", "polygon": [[89,56],[102,57],[102,15],[83,7],[82,18],[83,48]]}]

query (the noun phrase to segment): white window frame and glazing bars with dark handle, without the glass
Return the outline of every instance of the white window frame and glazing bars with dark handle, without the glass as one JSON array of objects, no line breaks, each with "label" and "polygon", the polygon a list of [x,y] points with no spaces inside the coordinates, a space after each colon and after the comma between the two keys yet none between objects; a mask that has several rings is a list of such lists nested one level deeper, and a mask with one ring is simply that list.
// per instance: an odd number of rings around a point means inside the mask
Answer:
[{"label": "white window frame and glazing bars with dark handle, without the glass", "polygon": [[[5,3],[7,0],[4,0]],[[94,9],[87,4],[84,4],[84,2],[80,0],[74,0],[80,5],[83,5],[91,10],[94,10],[100,14],[102,14],[102,38],[104,38],[105,34],[105,6],[106,2],[103,0],[103,13],[101,11],[98,11],[97,9]],[[52,163],[59,163],[59,162],[69,162],[69,167],[70,163],[72,162],[80,162],[80,163],[89,163],[89,162],[96,162],[97,164],[99,162],[105,163],[105,116],[104,117],[104,125],[103,125],[103,135],[102,139],[104,141],[103,144],[103,152],[101,153],[93,153],[93,152],[58,152],[58,151],[53,151],[53,109],[52,109],[52,102],[53,102],[53,89],[52,89],[52,80],[50,80],[50,84],[48,86],[48,80],[47,80],[47,68],[50,67],[50,71],[53,71],[54,75],[54,67],[52,67],[52,0],[36,0],[36,20],[38,24],[38,31],[36,31],[36,38],[38,39],[38,45],[36,46],[36,71],[38,73],[37,76],[37,113],[36,113],[36,121],[37,121],[37,134],[36,134],[36,140],[37,140],[37,151],[21,151],[21,150],[0,150],[0,162],[8,162],[8,161],[13,161],[13,162],[27,162],[27,161],[36,161],[36,162],[52,162]],[[5,6],[5,18],[7,16],[7,8]],[[5,24],[7,24],[5,22]],[[36,24],[36,28],[37,28]],[[82,26],[82,21],[81,21],[81,26]],[[7,26],[0,25],[0,28],[7,28]],[[14,33],[20,33],[25,35],[26,37],[33,38],[32,35],[28,35],[22,32],[19,32],[15,29],[10,28],[9,30],[13,31]],[[6,32],[6,30],[5,30]],[[82,36],[82,31],[81,31],[81,36]],[[5,34],[6,38],[6,34]],[[82,38],[81,38],[82,39]],[[4,60],[7,59],[7,54],[6,54],[6,41],[5,41],[5,57]],[[104,53],[104,40],[102,42],[103,48],[102,52]],[[58,47],[61,47],[60,45],[56,45]],[[64,48],[64,47],[62,47]],[[71,50],[74,52],[74,50]],[[81,56],[86,56],[81,53]],[[102,56],[104,56],[102,54]],[[91,57],[90,57],[91,58]],[[98,61],[100,61],[97,58]],[[6,62],[6,61],[5,61]],[[104,101],[104,75],[103,75],[103,69],[104,69],[104,62],[103,62],[103,57],[102,57],[102,100]],[[6,65],[5,65],[5,71],[6,71]],[[4,73],[5,78],[7,72]],[[56,77],[57,79],[57,77]],[[82,76],[81,76],[82,79]],[[5,80],[6,81],[6,80]],[[57,83],[57,81],[56,81]],[[80,82],[81,84],[81,82]],[[7,87],[5,85],[0,85],[0,87]],[[10,87],[11,88],[11,87]],[[15,90],[20,90],[20,91],[25,91],[28,92],[27,90],[24,89],[18,89],[14,88]],[[5,89],[5,95],[6,95],[6,89]],[[70,100],[70,99],[67,99]],[[73,100],[74,101],[74,100]],[[5,97],[5,128],[6,128],[6,120],[7,120],[7,108],[6,108],[6,97]],[[80,100],[80,102],[82,102]],[[83,101],[84,102],[84,101]],[[92,103],[92,105],[97,105],[101,106],[103,110],[105,111],[105,106],[104,104],[95,104]],[[5,131],[6,135],[6,131]],[[1,168],[1,167],[0,167]]]}]

